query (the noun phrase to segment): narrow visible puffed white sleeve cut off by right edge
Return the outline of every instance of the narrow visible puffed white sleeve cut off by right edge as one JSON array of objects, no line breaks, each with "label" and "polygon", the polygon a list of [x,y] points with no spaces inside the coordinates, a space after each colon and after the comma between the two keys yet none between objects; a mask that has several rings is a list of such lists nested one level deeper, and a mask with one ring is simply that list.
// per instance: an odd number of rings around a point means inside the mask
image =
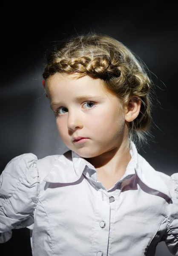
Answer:
[{"label": "narrow visible puffed white sleeve cut off by right edge", "polygon": [[168,207],[165,243],[172,255],[178,256],[178,173],[170,176],[172,202]]}]

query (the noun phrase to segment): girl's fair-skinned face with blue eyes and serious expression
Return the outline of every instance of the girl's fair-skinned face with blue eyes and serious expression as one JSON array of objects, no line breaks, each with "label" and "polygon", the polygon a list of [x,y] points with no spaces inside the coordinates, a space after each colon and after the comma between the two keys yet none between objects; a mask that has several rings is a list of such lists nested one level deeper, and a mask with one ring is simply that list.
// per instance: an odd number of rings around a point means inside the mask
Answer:
[{"label": "girl's fair-skinned face with blue eyes and serious expression", "polygon": [[[119,147],[126,129],[125,113],[102,80],[56,73],[47,85],[57,129],[69,149],[89,158]],[[79,136],[89,139],[74,143]]]}]

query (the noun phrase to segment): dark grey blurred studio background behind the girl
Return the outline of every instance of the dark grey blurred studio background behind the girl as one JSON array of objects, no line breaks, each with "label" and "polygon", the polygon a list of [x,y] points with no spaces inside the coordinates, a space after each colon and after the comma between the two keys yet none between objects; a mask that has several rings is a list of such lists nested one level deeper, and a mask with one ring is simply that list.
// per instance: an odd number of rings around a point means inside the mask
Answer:
[{"label": "dark grey blurred studio background behind the girl", "polygon": [[[102,3],[103,4],[103,3]],[[178,15],[171,3],[159,2],[72,6],[52,2],[26,6],[8,4],[1,10],[0,173],[15,156],[32,152],[38,158],[63,154],[55,116],[43,91],[42,73],[50,47],[71,35],[99,32],[121,41],[146,64],[155,86],[152,134],[155,139],[138,151],[158,171],[178,172]],[[100,3],[101,5],[101,3]],[[70,7],[69,7],[70,6]],[[159,102],[158,102],[159,101]],[[13,247],[19,256],[31,255],[29,230],[13,230],[0,244],[3,256]],[[2,254],[3,252],[3,254]],[[170,256],[166,245],[156,256]]]}]

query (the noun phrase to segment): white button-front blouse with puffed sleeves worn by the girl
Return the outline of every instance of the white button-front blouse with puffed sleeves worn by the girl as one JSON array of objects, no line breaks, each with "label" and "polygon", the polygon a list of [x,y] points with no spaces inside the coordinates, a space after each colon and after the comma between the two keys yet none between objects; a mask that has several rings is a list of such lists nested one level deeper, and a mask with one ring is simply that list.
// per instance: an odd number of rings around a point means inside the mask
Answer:
[{"label": "white button-front blouse with puffed sleeves worn by the girl", "polygon": [[106,190],[74,151],[14,157],[0,175],[0,243],[27,227],[33,256],[178,256],[178,173],[155,171],[130,142],[123,177]]}]

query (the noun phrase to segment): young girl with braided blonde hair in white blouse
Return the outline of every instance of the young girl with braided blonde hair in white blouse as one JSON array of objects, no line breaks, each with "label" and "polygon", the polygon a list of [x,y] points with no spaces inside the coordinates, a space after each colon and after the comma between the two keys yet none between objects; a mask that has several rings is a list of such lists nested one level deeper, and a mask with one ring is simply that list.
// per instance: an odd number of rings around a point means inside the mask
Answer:
[{"label": "young girl with braided blonde hair in white blouse", "polygon": [[119,41],[89,34],[49,54],[43,86],[63,155],[14,157],[0,175],[0,241],[28,227],[33,256],[178,256],[178,173],[138,154],[151,81]]}]

